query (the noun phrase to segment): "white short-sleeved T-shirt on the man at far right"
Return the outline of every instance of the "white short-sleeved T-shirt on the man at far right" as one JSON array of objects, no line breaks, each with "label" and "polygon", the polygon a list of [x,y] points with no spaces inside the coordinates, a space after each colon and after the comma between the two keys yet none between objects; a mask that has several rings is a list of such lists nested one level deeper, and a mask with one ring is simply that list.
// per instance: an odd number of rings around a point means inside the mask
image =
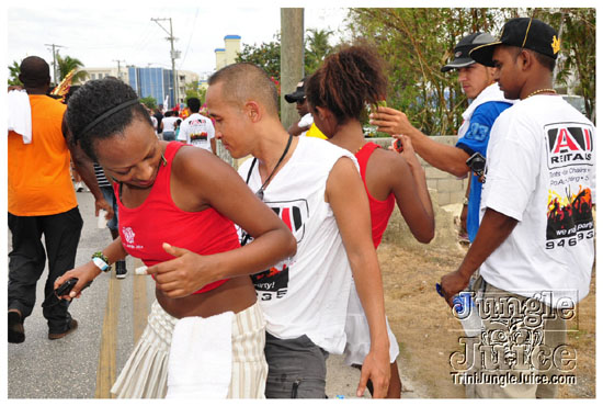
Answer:
[{"label": "white short-sleeved T-shirt on the man at far right", "polygon": [[519,221],[480,268],[496,287],[559,308],[589,293],[594,260],[595,128],[560,97],[534,95],[490,133],[481,215]]}]

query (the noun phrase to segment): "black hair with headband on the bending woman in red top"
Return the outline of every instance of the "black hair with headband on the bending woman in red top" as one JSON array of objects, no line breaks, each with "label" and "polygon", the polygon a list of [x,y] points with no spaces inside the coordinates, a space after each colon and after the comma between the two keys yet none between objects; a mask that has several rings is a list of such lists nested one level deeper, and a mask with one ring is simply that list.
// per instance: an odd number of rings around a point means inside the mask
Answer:
[{"label": "black hair with headband on the bending woman in red top", "polygon": [[116,78],[107,77],[86,82],[73,93],[67,105],[67,125],[72,135],[71,143],[79,143],[86,155],[96,162],[95,142],[123,133],[135,119],[152,126],[145,108],[140,103],[134,103],[87,129],[92,121],[106,111],[133,100],[138,100],[134,89]]}]

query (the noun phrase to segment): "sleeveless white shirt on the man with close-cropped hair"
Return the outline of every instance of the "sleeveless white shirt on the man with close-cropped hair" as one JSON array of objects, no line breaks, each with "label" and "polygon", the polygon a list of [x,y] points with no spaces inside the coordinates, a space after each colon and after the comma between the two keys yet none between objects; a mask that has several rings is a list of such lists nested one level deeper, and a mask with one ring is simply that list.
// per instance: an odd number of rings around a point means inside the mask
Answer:
[{"label": "sleeveless white shirt on the man with close-cropped hair", "polygon": [[[328,352],[345,347],[345,315],[352,271],[330,204],[325,202],[333,165],[352,154],[318,138],[299,138],[287,163],[264,191],[264,202],[293,232],[297,253],[252,277],[268,325],[278,338],[306,335]],[[253,159],[239,168],[247,179]],[[357,163],[356,163],[357,166]],[[249,180],[252,191],[262,184],[255,163]]]}]

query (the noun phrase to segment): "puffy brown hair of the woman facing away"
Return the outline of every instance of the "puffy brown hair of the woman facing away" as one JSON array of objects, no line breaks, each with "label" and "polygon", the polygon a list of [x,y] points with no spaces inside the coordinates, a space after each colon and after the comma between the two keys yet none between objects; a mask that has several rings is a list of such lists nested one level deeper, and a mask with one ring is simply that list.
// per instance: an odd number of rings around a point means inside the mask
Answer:
[{"label": "puffy brown hair of the woman facing away", "polygon": [[360,119],[365,104],[377,104],[387,92],[384,63],[367,45],[345,46],[330,55],[306,83],[312,106],[329,109],[338,123]]}]

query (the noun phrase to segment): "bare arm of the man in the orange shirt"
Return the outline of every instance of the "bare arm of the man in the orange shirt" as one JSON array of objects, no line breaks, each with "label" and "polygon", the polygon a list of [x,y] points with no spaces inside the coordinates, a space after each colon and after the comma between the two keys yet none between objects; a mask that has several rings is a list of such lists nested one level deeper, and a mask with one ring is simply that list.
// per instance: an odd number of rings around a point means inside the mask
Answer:
[{"label": "bare arm of the man in the orange shirt", "polygon": [[94,174],[94,165],[90,158],[83,153],[79,144],[71,142],[71,133],[69,132],[69,126],[67,125],[67,114],[62,115],[62,136],[67,143],[67,147],[71,153],[71,160],[73,161],[73,167],[81,176],[81,179],[90,189],[90,192],[94,196],[94,213],[96,217],[99,216],[99,211],[102,208],[107,212],[106,218],[113,218],[113,207],[104,199],[101,188],[99,188],[99,182],[96,181],[96,176]]}]

